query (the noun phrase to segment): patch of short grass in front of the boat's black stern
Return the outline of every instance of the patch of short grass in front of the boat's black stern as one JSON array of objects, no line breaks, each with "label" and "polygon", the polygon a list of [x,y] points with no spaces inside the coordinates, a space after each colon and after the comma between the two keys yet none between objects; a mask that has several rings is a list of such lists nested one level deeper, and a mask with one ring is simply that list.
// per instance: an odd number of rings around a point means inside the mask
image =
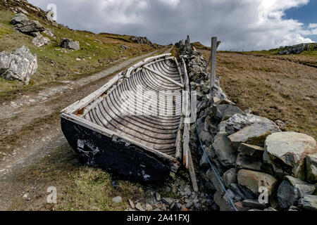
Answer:
[{"label": "patch of short grass in front of the boat's black stern", "polygon": [[[128,210],[128,200],[143,201],[147,192],[143,186],[129,181],[117,181],[112,185],[111,175],[101,169],[80,165],[77,155],[68,144],[54,149],[37,164],[17,174],[18,186],[28,191],[31,200],[15,199],[11,210],[56,211],[123,211]],[[46,188],[57,189],[57,204],[46,203]],[[121,196],[121,203],[112,199]]]}]

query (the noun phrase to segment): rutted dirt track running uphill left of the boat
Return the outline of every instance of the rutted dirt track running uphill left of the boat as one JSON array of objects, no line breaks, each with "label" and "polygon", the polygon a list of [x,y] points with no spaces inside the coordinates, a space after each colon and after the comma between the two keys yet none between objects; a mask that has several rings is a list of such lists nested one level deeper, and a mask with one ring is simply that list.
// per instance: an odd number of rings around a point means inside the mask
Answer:
[{"label": "rutted dirt track running uphill left of the boat", "polygon": [[[170,49],[163,51],[167,53]],[[57,177],[42,179],[42,173],[48,172],[45,168],[50,167],[45,165],[50,163],[47,159],[52,158],[52,164],[56,160],[77,163],[61,132],[59,112],[104,85],[128,65],[159,53],[162,50],[130,58],[96,75],[3,103],[0,107],[0,210],[45,210],[42,203],[46,201],[46,188],[57,185],[49,182],[62,182]],[[39,167],[44,170],[37,174]],[[30,176],[30,172],[34,176]],[[58,176],[58,172],[65,171],[56,169],[54,176]]]}]

